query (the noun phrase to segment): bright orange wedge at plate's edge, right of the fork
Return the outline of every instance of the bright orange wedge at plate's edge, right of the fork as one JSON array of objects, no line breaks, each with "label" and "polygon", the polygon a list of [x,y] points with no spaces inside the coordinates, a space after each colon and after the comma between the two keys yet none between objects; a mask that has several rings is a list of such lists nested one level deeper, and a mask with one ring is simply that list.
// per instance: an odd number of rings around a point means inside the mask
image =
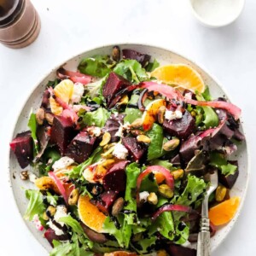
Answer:
[{"label": "bright orange wedge at plate's edge, right of the fork", "polygon": [[210,208],[209,218],[212,224],[216,226],[227,224],[235,216],[239,203],[240,197],[235,196]]}]

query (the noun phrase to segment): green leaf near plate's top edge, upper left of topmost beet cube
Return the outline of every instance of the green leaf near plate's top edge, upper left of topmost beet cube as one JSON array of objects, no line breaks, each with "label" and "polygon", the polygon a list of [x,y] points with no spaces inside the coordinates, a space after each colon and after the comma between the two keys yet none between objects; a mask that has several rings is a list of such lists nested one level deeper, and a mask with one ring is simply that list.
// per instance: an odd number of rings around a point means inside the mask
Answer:
[{"label": "green leaf near plate's top edge, upper left of topmost beet cube", "polygon": [[108,55],[94,55],[83,59],[78,68],[81,73],[103,78],[111,72],[111,65],[108,65],[108,61],[110,61]]}]

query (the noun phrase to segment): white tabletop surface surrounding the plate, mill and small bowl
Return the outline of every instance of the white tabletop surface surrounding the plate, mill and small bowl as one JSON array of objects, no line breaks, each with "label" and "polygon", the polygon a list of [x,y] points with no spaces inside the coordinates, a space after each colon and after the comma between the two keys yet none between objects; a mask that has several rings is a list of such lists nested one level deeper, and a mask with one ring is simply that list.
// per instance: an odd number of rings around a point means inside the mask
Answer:
[{"label": "white tabletop surface surrounding the plate, mill and small bowl", "polygon": [[32,0],[42,20],[25,49],[0,45],[0,255],[47,255],[15,208],[6,165],[16,114],[44,74],[68,57],[102,44],[147,43],[189,56],[213,73],[242,109],[252,174],[241,216],[214,256],[256,255],[256,1],[230,26],[210,29],[186,0]]}]

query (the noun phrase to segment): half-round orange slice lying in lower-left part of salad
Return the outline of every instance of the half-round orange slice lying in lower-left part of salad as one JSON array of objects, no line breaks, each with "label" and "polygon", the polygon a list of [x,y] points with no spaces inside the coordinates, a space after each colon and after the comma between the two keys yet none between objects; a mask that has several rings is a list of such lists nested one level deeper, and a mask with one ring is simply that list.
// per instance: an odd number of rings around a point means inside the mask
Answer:
[{"label": "half-round orange slice lying in lower-left part of salad", "polygon": [[107,217],[95,205],[90,203],[89,196],[80,195],[78,207],[79,218],[81,218],[82,222],[91,230],[102,233],[102,226]]}]

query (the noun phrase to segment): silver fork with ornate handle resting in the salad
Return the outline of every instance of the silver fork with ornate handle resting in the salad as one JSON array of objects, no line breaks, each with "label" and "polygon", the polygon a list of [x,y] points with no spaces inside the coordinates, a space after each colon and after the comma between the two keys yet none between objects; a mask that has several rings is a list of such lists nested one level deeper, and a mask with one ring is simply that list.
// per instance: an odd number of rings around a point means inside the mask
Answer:
[{"label": "silver fork with ornate handle resting in the salad", "polygon": [[202,202],[201,207],[201,220],[200,220],[200,232],[198,233],[197,240],[197,256],[210,256],[210,220],[208,218],[208,201],[209,196],[218,186],[218,171],[215,170],[212,174],[207,174],[206,180],[210,182],[210,186],[207,189],[207,195]]}]

